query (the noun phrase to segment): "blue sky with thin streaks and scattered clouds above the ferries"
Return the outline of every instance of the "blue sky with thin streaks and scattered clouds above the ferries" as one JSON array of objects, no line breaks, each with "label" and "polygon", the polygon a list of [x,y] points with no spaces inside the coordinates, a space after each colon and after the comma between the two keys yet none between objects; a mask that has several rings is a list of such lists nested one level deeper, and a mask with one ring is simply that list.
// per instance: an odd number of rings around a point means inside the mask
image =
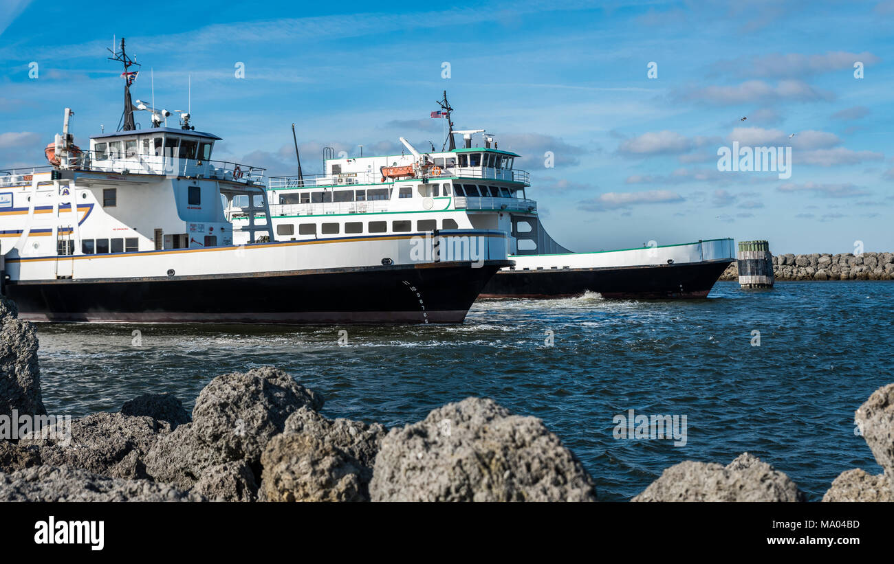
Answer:
[{"label": "blue sky with thin streaks and scattered clouds above the ferries", "polygon": [[[525,156],[528,195],[574,250],[721,236],[775,253],[894,250],[894,0],[155,2],[126,17],[0,4],[0,168],[42,164],[65,106],[80,145],[116,128],[121,69],[105,48],[124,35],[143,65],[134,98],[151,97],[152,69],[156,105],[186,109],[191,76],[193,125],[224,138],[219,159],[290,173],[292,122],[305,170],[325,145],[440,147],[428,115],[446,89],[458,128]],[[791,178],[717,170],[733,141],[791,146]]]}]

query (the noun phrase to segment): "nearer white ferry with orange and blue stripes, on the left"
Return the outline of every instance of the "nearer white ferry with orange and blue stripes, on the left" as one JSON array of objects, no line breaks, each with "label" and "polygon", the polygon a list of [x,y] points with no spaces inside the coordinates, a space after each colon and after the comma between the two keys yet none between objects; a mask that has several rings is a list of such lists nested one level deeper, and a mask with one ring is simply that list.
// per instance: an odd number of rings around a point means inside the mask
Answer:
[{"label": "nearer white ferry with orange and blue stripes, on the left", "polygon": [[[270,233],[264,170],[212,160],[210,133],[165,127],[136,101],[124,52],[122,129],[74,145],[72,111],[49,164],[0,167],[0,281],[37,321],[458,323],[509,266],[496,229],[323,228]],[[148,112],[139,129],[134,111]],[[225,211],[240,200],[249,220]],[[444,253],[434,252],[445,250]]]}]

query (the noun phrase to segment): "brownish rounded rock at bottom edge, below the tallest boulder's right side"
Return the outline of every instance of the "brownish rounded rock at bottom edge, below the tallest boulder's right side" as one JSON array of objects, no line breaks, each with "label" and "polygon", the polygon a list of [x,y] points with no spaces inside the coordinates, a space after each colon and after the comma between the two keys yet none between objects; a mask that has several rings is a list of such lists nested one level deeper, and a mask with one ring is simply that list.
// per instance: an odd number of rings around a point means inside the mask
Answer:
[{"label": "brownish rounded rock at bottom edge, below the tallest boulder's right side", "polygon": [[308,431],[276,435],[261,456],[266,502],[366,502],[357,459],[325,436]]}]

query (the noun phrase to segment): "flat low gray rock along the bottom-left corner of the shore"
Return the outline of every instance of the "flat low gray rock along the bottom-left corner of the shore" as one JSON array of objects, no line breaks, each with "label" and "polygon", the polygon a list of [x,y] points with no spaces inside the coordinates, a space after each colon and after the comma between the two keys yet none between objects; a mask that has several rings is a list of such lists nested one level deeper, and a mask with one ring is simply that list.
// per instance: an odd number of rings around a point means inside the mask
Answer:
[{"label": "flat low gray rock along the bottom-left corner of the shore", "polygon": [[148,480],[99,476],[80,469],[38,466],[0,473],[0,502],[202,502],[195,493]]}]

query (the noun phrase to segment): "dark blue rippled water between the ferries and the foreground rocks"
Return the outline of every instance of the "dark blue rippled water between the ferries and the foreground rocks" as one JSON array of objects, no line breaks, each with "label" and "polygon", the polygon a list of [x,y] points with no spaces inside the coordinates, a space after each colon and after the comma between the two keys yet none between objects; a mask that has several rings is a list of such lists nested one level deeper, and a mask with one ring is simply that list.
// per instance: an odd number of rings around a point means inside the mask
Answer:
[{"label": "dark blue rippled water between the ferries and the foreground rocks", "polygon": [[[815,501],[846,469],[881,473],[853,413],[894,381],[892,297],[894,282],[764,292],[727,282],[691,302],[484,301],[461,326],[348,327],[346,346],[338,328],[43,325],[38,334],[52,413],[117,411],[162,391],[191,409],[212,377],[274,364],[323,392],[326,415],[389,427],[490,396],[544,419],[605,501],[628,500],[681,460],[726,464],[745,451]],[[629,409],[686,415],[686,446],[616,440],[612,418]]]}]

